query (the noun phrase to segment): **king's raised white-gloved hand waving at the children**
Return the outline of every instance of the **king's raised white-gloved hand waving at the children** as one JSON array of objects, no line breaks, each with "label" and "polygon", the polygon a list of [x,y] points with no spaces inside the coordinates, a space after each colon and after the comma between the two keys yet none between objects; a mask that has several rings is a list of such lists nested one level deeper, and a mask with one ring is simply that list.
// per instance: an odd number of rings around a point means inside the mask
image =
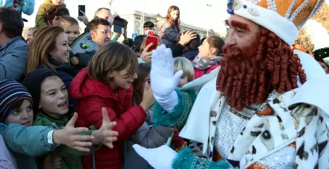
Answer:
[{"label": "king's raised white-gloved hand waving at the children", "polygon": [[167,97],[177,88],[183,71],[173,74],[173,58],[170,48],[158,46],[152,51],[151,87],[156,96]]}]

